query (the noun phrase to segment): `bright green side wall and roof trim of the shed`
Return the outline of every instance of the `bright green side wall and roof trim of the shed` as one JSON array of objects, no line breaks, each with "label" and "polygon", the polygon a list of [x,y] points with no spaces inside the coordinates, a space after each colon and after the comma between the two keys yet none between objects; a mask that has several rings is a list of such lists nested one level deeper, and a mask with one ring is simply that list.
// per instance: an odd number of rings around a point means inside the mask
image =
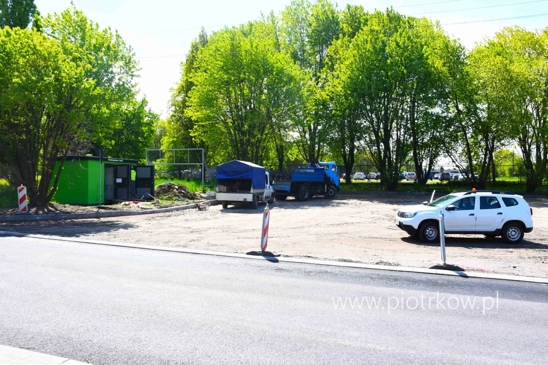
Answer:
[{"label": "bright green side wall and roof trim of the shed", "polygon": [[[99,157],[68,156],[63,164],[59,184],[53,201],[59,204],[99,204],[99,188],[102,201],[105,202],[105,164],[136,165],[137,160],[104,158],[101,165],[101,183],[99,183]],[[52,186],[60,159],[55,164]]]}]

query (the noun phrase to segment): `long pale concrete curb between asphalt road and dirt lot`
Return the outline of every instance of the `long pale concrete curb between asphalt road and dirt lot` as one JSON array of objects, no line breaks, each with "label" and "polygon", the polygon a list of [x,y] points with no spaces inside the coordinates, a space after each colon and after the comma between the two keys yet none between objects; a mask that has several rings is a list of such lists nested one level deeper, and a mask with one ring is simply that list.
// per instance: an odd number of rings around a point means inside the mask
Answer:
[{"label": "long pale concrete curb between asphalt road and dirt lot", "polygon": [[473,272],[473,271],[435,270],[435,269],[424,269],[424,268],[410,268],[410,267],[406,267],[406,266],[371,265],[371,264],[347,263],[347,262],[327,261],[327,260],[300,259],[300,258],[292,258],[292,257],[253,256],[253,255],[247,255],[247,254],[244,254],[244,253],[230,253],[230,252],[219,252],[219,251],[194,250],[192,248],[177,248],[177,247],[162,247],[162,246],[150,246],[150,245],[121,244],[121,243],[118,243],[118,242],[96,241],[96,240],[81,240],[81,239],[65,238],[65,237],[60,237],[60,236],[45,236],[45,235],[37,235],[37,234],[24,234],[24,233],[9,232],[9,231],[0,231],[0,235],[16,236],[16,237],[30,237],[30,238],[55,240],[55,241],[78,242],[78,243],[81,243],[81,244],[94,244],[94,245],[117,246],[117,247],[128,247],[128,248],[142,248],[144,250],[169,251],[169,252],[181,252],[181,253],[195,253],[195,254],[206,254],[206,255],[212,255],[212,256],[225,256],[225,257],[239,257],[239,258],[247,258],[247,259],[255,259],[255,260],[268,260],[268,261],[272,261],[272,262],[280,262],[280,261],[281,262],[294,262],[294,263],[300,263],[300,264],[341,266],[341,267],[345,267],[345,268],[374,269],[374,270],[388,270],[388,271],[404,271],[404,272],[407,272],[407,273],[437,274],[437,275],[450,275],[450,276],[461,276],[461,277],[476,277],[476,278],[479,278],[479,279],[524,281],[524,282],[535,282],[535,283],[548,284],[548,278],[544,278],[544,277],[476,273],[476,272]]}]

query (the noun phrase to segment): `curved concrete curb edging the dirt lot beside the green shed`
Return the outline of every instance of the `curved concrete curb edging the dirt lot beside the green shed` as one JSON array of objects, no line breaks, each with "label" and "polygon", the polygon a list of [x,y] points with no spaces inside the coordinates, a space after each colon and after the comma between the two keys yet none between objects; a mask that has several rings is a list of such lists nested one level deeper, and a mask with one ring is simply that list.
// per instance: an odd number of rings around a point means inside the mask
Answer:
[{"label": "curved concrete curb edging the dirt lot beside the green shed", "polygon": [[[209,205],[219,205],[221,204],[220,200],[201,200],[209,201]],[[107,218],[107,217],[123,217],[123,216],[140,216],[143,214],[155,214],[155,213],[166,213],[173,212],[177,210],[187,210],[193,209],[196,207],[196,202],[192,204],[180,205],[169,208],[158,208],[158,209],[149,209],[149,210],[138,210],[138,211],[124,211],[117,210],[111,212],[92,212],[92,213],[75,213],[75,214],[21,214],[14,216],[0,216],[0,223],[5,222],[36,222],[36,221],[61,221],[63,219],[90,219],[90,218]]]}]

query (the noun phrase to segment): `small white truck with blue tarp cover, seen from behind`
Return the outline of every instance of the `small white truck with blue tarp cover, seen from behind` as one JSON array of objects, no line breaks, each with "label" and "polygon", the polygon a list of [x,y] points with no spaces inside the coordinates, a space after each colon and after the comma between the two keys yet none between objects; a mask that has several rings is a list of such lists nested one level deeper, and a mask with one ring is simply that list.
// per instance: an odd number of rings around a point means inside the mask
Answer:
[{"label": "small white truck with blue tarp cover, seen from behind", "polygon": [[274,202],[269,173],[247,161],[232,160],[217,166],[215,195],[225,209],[229,204],[257,208],[259,201]]}]

